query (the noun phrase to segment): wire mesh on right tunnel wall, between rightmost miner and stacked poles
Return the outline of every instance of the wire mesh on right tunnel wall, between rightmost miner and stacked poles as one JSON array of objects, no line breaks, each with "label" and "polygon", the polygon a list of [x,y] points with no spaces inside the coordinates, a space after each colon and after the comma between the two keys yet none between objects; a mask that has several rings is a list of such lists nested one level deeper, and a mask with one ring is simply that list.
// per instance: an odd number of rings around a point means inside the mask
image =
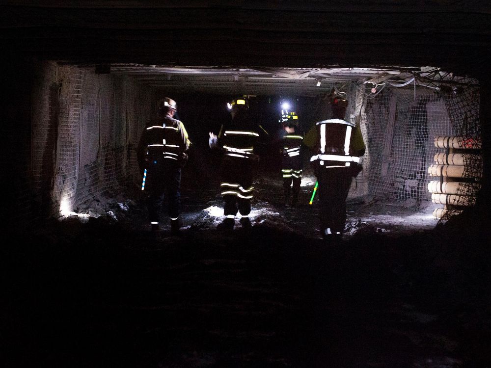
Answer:
[{"label": "wire mesh on right tunnel wall, between rightmost miner and stacked poles", "polygon": [[434,137],[456,131],[445,97],[427,88],[386,87],[366,99],[362,131],[369,193],[390,199],[430,200],[427,172],[436,154]]}]

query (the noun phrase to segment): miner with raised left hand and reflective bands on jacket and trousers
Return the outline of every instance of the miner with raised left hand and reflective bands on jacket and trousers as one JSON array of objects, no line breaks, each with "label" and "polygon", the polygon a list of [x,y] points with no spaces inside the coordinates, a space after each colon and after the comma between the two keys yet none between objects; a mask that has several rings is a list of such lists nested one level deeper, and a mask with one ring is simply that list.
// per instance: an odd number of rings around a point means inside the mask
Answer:
[{"label": "miner with raised left hand and reflective bands on jacket and trousers", "polygon": [[260,126],[249,117],[246,98],[236,98],[227,105],[232,120],[221,126],[218,136],[210,132],[209,143],[210,148],[219,149],[224,154],[220,189],[226,218],[219,228],[233,229],[237,212],[242,226],[250,226],[250,200],[254,191],[252,178],[259,158],[254,154],[254,145],[259,140]]}]

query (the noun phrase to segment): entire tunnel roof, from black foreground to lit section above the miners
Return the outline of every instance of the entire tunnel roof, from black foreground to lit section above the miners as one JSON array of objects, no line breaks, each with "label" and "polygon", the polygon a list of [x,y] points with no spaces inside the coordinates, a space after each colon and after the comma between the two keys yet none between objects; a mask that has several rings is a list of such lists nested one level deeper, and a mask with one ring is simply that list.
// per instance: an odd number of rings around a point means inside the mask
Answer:
[{"label": "entire tunnel roof, from black foreground to lit section above the miners", "polygon": [[0,10],[6,53],[184,91],[311,94],[426,66],[487,74],[490,61],[489,0],[4,0]]}]

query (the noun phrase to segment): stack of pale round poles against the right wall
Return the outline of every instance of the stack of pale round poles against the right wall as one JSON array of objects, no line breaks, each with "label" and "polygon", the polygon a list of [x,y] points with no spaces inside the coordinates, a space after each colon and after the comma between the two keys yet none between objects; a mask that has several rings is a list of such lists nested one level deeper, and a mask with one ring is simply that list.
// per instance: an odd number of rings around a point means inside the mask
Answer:
[{"label": "stack of pale round poles against the right wall", "polygon": [[435,147],[444,148],[445,152],[437,153],[435,164],[428,168],[434,179],[428,184],[428,190],[433,203],[444,205],[433,211],[435,218],[442,218],[475,205],[483,177],[482,141],[472,137],[437,136]]}]

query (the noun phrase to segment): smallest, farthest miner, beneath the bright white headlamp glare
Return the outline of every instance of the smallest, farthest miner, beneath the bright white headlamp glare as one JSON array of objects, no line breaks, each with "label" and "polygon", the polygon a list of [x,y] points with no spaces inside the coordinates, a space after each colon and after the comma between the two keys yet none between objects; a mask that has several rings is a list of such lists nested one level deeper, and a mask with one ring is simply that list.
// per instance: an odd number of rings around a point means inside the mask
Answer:
[{"label": "smallest, farthest miner, beneath the bright white headlamp glare", "polygon": [[281,130],[277,140],[281,145],[281,176],[283,178],[285,205],[295,206],[299,199],[300,182],[302,180],[300,148],[303,133],[300,131],[299,116],[296,112],[290,111],[290,105],[286,102],[281,105],[279,123],[281,124]]}]

